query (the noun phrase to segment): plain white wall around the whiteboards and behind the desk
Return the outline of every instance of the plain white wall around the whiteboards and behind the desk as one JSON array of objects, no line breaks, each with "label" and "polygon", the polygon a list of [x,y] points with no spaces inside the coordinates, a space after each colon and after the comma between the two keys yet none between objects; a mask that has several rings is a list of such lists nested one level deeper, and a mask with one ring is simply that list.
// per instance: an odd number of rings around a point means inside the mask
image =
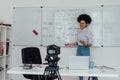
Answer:
[{"label": "plain white wall around the whiteboards and behind the desk", "polygon": [[[13,7],[33,6],[97,6],[120,5],[120,0],[0,0],[0,21],[13,22]],[[21,48],[13,47],[12,66],[21,64]],[[46,55],[46,48],[40,48],[42,57]],[[68,56],[75,55],[76,48],[62,48],[60,64],[68,65]],[[107,65],[120,68],[120,47],[91,48],[91,55],[97,65]],[[43,59],[44,60],[44,59]],[[13,76],[14,80],[24,80],[22,75]],[[64,77],[63,80],[78,80],[78,77]],[[100,78],[99,80],[120,80],[120,78]]]}]

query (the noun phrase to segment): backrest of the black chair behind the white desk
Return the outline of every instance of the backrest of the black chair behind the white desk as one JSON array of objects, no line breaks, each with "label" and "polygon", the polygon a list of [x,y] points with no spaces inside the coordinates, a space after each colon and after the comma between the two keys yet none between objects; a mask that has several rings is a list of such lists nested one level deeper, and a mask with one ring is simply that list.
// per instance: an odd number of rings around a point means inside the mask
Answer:
[{"label": "backrest of the black chair behind the white desk", "polygon": [[37,47],[26,47],[22,49],[23,64],[42,64],[40,50]]}]

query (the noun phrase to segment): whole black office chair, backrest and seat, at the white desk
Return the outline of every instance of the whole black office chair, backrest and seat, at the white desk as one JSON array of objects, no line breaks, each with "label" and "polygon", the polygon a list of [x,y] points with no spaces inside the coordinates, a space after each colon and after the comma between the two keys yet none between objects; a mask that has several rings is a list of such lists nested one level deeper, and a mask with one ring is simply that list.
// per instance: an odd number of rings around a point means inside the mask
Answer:
[{"label": "whole black office chair, backrest and seat, at the white desk", "polygon": [[[40,50],[37,47],[26,47],[22,49],[22,63],[23,64],[42,64]],[[29,75],[23,74],[27,79],[31,80],[43,80],[43,75]]]}]

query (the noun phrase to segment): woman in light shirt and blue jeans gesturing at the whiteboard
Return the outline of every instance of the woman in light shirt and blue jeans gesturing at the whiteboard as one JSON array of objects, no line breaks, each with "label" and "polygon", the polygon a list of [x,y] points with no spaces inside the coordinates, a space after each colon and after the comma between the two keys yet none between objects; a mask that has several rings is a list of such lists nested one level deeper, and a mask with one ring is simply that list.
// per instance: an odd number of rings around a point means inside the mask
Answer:
[{"label": "woman in light shirt and blue jeans gesturing at the whiteboard", "polygon": [[[90,56],[90,47],[92,46],[92,32],[88,29],[91,24],[91,17],[88,14],[81,14],[77,18],[80,23],[80,29],[77,35],[77,41],[74,43],[67,43],[65,46],[77,46],[76,56]],[[80,77],[83,80],[83,77]]]}]

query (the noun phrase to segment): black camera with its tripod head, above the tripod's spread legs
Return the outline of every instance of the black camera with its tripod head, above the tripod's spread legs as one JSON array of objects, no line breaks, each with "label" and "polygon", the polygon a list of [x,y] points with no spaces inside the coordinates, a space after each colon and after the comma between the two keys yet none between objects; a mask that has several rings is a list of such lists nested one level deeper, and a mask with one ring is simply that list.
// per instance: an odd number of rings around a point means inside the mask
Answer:
[{"label": "black camera with its tripod head, above the tripod's spread legs", "polygon": [[48,45],[47,46],[47,56],[45,58],[48,61],[49,67],[57,67],[57,62],[60,60],[58,57],[60,54],[60,47],[56,45]]}]

